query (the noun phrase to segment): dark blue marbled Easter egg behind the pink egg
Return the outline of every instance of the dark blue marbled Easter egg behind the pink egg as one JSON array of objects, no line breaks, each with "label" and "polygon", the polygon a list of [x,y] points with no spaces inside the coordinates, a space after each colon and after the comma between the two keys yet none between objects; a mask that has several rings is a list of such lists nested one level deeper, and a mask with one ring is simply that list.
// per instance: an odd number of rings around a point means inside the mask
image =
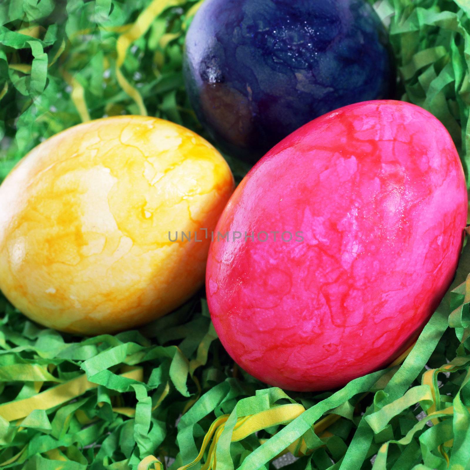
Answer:
[{"label": "dark blue marbled Easter egg behind the pink egg", "polygon": [[212,138],[253,160],[328,111],[390,98],[386,38],[364,0],[205,0],[186,36],[186,88]]}]

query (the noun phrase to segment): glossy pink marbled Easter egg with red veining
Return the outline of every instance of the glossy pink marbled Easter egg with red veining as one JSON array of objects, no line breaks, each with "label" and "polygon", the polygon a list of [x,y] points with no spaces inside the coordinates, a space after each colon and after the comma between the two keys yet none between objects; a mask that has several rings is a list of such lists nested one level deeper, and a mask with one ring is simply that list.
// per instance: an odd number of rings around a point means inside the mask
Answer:
[{"label": "glossy pink marbled Easter egg with red veining", "polygon": [[211,243],[206,291],[222,344],[289,390],[386,367],[452,282],[466,216],[457,151],[427,111],[372,101],[313,120],[253,167],[219,219],[228,235]]}]

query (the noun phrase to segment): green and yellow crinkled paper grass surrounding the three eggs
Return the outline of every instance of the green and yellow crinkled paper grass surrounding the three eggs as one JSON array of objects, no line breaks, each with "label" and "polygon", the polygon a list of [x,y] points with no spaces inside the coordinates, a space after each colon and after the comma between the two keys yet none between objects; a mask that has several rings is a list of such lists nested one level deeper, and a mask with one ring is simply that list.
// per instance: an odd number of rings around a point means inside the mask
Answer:
[{"label": "green and yellow crinkled paper grass surrounding the three eggs", "polygon": [[[398,97],[446,125],[470,184],[469,3],[371,3],[389,24]],[[0,179],[40,141],[105,115],[204,135],[181,77],[198,5],[0,2]],[[145,27],[129,33],[138,18]],[[227,160],[240,180],[248,168]],[[403,362],[323,393],[240,370],[204,292],[144,329],[92,338],[42,328],[1,298],[0,469],[274,469],[285,452],[298,457],[287,470],[470,469],[469,273],[466,246]]]}]

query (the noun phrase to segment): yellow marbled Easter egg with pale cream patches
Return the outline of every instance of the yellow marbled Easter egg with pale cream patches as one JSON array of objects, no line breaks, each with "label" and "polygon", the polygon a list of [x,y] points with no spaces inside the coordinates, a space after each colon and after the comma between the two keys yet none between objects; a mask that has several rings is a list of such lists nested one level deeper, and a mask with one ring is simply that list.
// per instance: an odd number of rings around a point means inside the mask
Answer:
[{"label": "yellow marbled Easter egg with pale cream patches", "polygon": [[180,125],[120,116],[71,127],[0,186],[0,289],[71,333],[154,320],[203,285],[200,229],[215,226],[233,186],[219,152]]}]

